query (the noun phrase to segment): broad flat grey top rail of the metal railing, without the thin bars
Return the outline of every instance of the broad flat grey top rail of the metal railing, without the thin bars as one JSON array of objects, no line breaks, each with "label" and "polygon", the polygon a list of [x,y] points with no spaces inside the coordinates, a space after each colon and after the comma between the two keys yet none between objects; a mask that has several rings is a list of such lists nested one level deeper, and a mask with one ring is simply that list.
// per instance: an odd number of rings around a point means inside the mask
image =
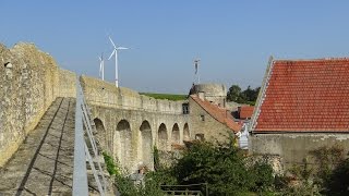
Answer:
[{"label": "broad flat grey top rail of the metal railing, without the thin bars", "polygon": [[73,195],[87,196],[88,184],[86,173],[85,140],[82,113],[82,91],[79,79],[76,81],[76,108],[75,108],[75,139],[74,139],[74,173]]}]

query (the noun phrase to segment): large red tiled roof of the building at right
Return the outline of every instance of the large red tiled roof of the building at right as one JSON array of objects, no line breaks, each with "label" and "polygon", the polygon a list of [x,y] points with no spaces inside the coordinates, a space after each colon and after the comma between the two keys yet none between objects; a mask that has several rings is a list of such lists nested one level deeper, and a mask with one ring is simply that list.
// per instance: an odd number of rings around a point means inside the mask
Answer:
[{"label": "large red tiled roof of the building at right", "polygon": [[273,63],[255,132],[349,132],[349,59]]}]

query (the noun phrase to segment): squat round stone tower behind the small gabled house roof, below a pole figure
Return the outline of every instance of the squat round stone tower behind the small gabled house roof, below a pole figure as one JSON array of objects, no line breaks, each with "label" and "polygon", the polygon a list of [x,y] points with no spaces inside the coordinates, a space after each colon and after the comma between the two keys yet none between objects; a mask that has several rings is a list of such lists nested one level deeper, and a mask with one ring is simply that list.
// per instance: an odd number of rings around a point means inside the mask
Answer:
[{"label": "squat round stone tower behind the small gabled house roof, below a pole figure", "polygon": [[226,107],[227,88],[222,84],[196,84],[193,85],[190,95],[197,95],[201,99],[206,99],[212,103]]}]

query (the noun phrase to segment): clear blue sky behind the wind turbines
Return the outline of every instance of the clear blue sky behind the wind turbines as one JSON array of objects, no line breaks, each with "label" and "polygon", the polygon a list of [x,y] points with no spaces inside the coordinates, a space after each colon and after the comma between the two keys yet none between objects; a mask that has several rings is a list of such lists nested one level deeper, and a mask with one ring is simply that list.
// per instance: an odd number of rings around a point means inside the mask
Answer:
[{"label": "clear blue sky behind the wind turbines", "polygon": [[[115,42],[120,85],[186,94],[201,82],[261,85],[268,57],[349,57],[345,0],[4,0],[0,42],[35,42],[63,69],[98,77],[98,56]],[[113,61],[106,78],[113,81]]]}]

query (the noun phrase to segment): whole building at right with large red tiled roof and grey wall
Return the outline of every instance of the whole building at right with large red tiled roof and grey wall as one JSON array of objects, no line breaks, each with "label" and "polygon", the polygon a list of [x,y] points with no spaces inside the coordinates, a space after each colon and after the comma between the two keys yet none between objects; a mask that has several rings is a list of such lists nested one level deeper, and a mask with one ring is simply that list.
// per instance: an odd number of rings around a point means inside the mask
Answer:
[{"label": "whole building at right with large red tiled roof and grey wall", "polygon": [[318,147],[349,149],[349,59],[273,60],[250,126],[253,154],[290,168]]}]

